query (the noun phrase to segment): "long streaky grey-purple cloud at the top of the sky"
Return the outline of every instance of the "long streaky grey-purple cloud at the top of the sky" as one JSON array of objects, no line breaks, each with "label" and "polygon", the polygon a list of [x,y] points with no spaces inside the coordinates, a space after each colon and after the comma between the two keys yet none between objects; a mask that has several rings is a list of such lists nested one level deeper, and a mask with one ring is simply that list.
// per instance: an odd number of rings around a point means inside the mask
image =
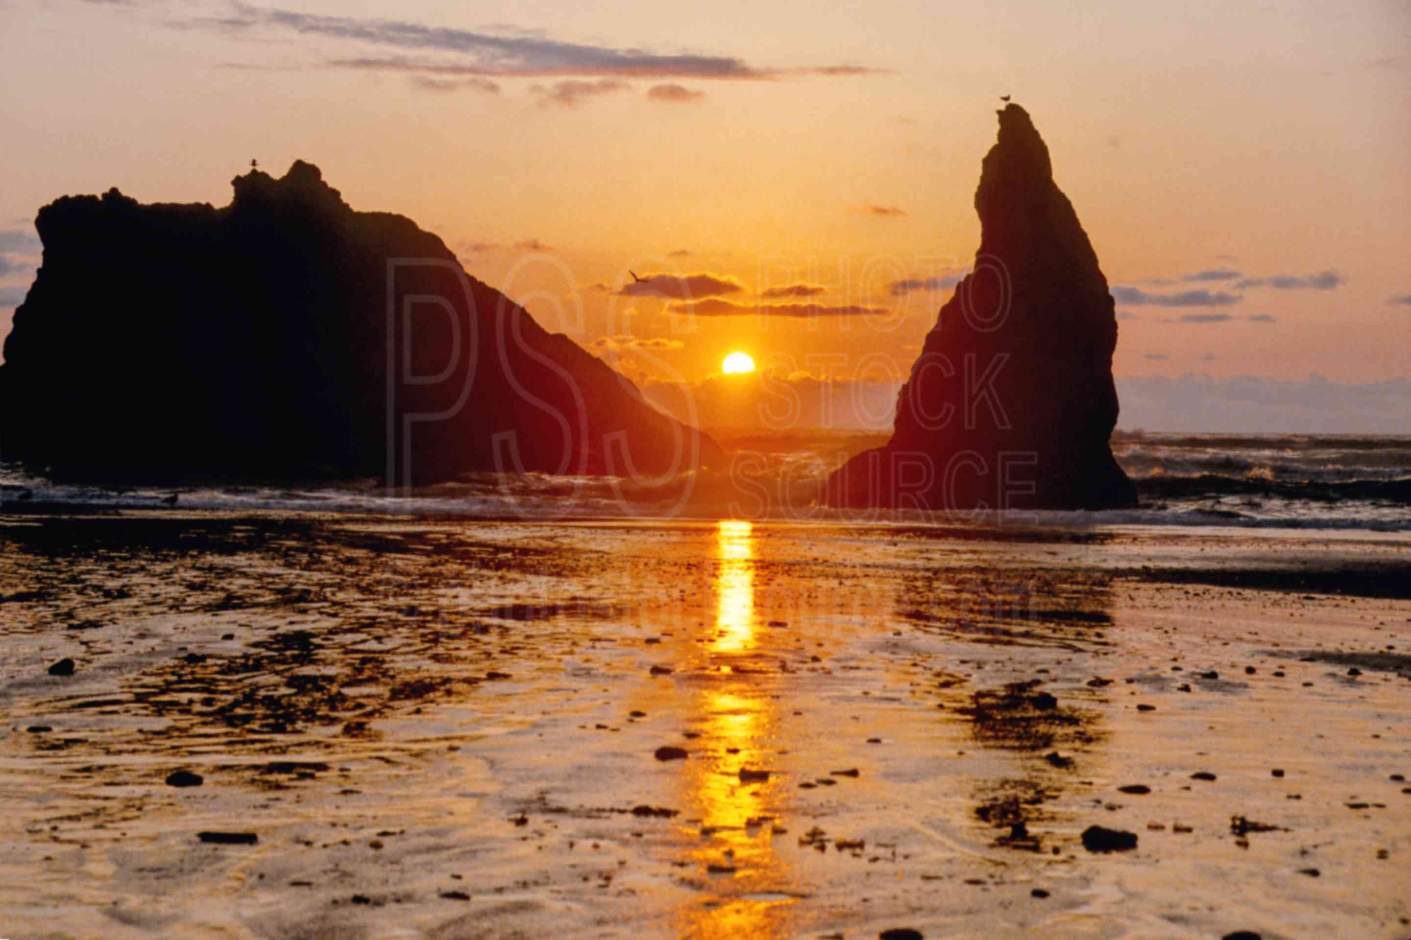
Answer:
[{"label": "long streaky grey-purple cloud at the top of the sky", "polygon": [[337,42],[406,49],[413,54],[454,56],[454,62],[405,58],[334,59],[327,65],[358,69],[426,70],[433,75],[483,75],[521,78],[617,76],[641,79],[773,79],[783,75],[847,76],[875,72],[856,65],[814,65],[793,69],[755,68],[732,55],[660,55],[641,48],[560,42],[536,31],[495,25],[490,30],[432,27],[408,20],[329,16],[257,7],[233,0],[226,16],[171,21],[183,30],[226,35],[257,31],[295,32]]}]

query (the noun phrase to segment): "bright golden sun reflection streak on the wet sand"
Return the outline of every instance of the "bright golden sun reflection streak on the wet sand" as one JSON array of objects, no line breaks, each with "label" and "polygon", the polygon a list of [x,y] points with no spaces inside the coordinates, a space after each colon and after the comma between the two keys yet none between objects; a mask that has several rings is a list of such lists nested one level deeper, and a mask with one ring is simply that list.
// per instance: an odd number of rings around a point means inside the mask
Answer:
[{"label": "bright golden sun reflection streak on the wet sand", "polygon": [[782,937],[792,899],[779,892],[794,889],[785,860],[775,854],[785,784],[777,774],[741,779],[742,769],[776,769],[779,751],[776,676],[758,665],[739,668],[756,644],[751,523],[721,521],[715,558],[713,669],[694,709],[704,760],[689,761],[686,777],[690,815],[703,830],[689,860],[711,896],[683,908],[682,936]]}]

